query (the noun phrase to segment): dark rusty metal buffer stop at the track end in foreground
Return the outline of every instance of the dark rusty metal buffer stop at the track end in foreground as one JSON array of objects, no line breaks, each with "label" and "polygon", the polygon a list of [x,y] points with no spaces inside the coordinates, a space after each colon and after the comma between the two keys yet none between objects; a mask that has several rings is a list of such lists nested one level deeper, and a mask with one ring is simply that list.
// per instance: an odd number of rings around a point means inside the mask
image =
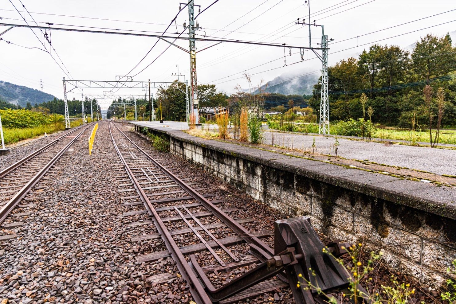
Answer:
[{"label": "dark rusty metal buffer stop at the track end in foreground", "polygon": [[[345,248],[350,245],[334,240],[325,246],[311,226],[309,217],[276,221],[274,245],[275,252],[272,258],[218,289],[214,288],[194,255],[190,256],[192,268],[214,303],[275,275],[288,281],[296,304],[327,303],[332,293],[350,287],[351,274],[334,258],[347,253]],[[323,248],[325,250],[322,250]],[[250,244],[250,253],[256,257],[264,257],[265,252]],[[368,294],[361,286],[358,285],[356,288],[359,294]],[[370,303],[363,297],[358,297],[357,300],[358,303]]]}]

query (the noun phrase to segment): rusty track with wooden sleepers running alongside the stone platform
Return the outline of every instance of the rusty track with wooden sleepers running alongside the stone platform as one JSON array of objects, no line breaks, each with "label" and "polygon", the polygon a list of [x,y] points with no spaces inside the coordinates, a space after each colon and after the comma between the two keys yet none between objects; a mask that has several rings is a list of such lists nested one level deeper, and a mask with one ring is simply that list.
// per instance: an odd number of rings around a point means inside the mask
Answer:
[{"label": "rusty track with wooden sleepers running alongside the stone platform", "polygon": [[[191,259],[193,263],[201,265],[205,273],[217,274],[227,269],[230,272],[236,268],[256,266],[256,263],[273,256],[271,247],[260,240],[269,237],[271,231],[249,232],[241,223],[252,222],[252,219],[234,219],[228,216],[227,213],[237,209],[221,209],[216,206],[223,201],[209,201],[207,198],[211,197],[210,193],[203,195],[200,190],[204,188],[194,189],[191,186],[204,185],[185,183],[184,180],[189,178],[180,178],[177,175],[186,172],[165,168],[128,138],[116,124],[109,123],[109,131],[122,164],[119,169],[114,170],[118,170],[119,174],[123,174],[124,170],[127,173],[118,176],[119,192],[130,195],[124,197],[124,206],[136,207],[136,210],[125,212],[123,216],[148,214],[149,219],[130,222],[128,226],[154,225],[156,229],[156,233],[134,236],[131,240],[140,242],[161,238],[166,246],[163,250],[137,256],[137,262],[154,262],[171,256],[179,273],[187,281],[193,300],[196,303],[212,303],[194,272]],[[144,206],[145,209],[137,208],[138,206]],[[223,238],[219,238],[221,235]],[[249,247],[257,250],[249,253]],[[191,257],[191,254],[194,256]],[[243,271],[245,269],[236,274]],[[228,277],[228,281],[234,276]],[[210,277],[219,278],[217,275]],[[161,273],[149,280],[153,283],[166,283],[170,278],[172,279],[170,273]],[[216,280],[211,283],[220,287],[223,281]],[[288,287],[288,284],[280,279],[272,279],[219,303],[238,302],[283,287]]]}]

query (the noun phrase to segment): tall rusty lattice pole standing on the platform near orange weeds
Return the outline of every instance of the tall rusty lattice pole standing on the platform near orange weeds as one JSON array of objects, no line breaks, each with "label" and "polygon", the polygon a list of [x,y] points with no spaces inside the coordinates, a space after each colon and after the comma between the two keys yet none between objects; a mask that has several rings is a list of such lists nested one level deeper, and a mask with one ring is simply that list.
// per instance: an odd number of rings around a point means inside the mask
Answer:
[{"label": "tall rusty lattice pole standing on the platform near orange weeds", "polygon": [[[199,5],[197,5],[199,6]],[[200,6],[201,9],[201,6]],[[184,23],[185,27],[185,23]],[[198,82],[197,82],[197,47],[195,40],[195,31],[199,29],[199,25],[195,25],[195,5],[194,0],[188,0],[188,37],[190,48],[190,87],[192,95],[191,113],[195,115],[195,124],[199,124],[199,111],[198,111]]]}]

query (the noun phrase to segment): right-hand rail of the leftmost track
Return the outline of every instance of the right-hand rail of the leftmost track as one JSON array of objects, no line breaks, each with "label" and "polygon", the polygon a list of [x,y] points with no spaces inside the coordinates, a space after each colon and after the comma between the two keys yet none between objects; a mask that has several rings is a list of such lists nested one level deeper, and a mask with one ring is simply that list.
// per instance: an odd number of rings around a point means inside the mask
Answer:
[{"label": "right-hand rail of the leftmost track", "polygon": [[6,216],[10,214],[11,211],[13,211],[14,207],[16,207],[17,204],[26,196],[28,191],[31,190],[31,188],[41,179],[41,177],[49,170],[49,168],[54,165],[54,163],[65,153],[65,151],[76,141],[76,139],[79,138],[81,134],[84,133],[85,130],[89,128],[89,125],[87,128],[83,129],[81,133],[76,135],[63,149],[61,149],[53,158],[50,160],[38,173],[36,173],[35,176],[26,184],[24,185],[21,190],[19,190],[15,196],[13,196],[10,201],[6,203],[5,206],[3,206],[0,209],[0,224],[5,221]]}]

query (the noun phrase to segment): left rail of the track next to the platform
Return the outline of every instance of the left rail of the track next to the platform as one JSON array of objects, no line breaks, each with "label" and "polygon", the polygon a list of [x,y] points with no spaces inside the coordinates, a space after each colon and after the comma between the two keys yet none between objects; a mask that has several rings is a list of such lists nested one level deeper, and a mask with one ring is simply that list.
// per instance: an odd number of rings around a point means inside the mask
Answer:
[{"label": "left rail of the track next to the platform", "polygon": [[[117,126],[116,126],[117,128]],[[119,130],[119,128],[117,128]],[[122,131],[119,130],[120,133]],[[120,160],[125,166],[125,170],[127,171],[127,174],[130,176],[130,180],[132,181],[133,185],[135,186],[136,191],[138,192],[141,201],[143,201],[145,208],[149,212],[150,216],[152,216],[152,220],[155,224],[155,227],[157,228],[158,233],[160,234],[161,238],[165,242],[166,248],[171,254],[171,257],[173,260],[176,262],[176,267],[181,273],[182,277],[187,281],[190,289],[190,293],[193,296],[193,300],[197,304],[209,304],[212,303],[212,301],[209,299],[206,291],[204,290],[204,287],[196,277],[195,273],[193,272],[192,268],[190,268],[190,265],[188,264],[187,260],[185,259],[184,255],[180,251],[179,247],[177,246],[176,242],[173,240],[170,232],[166,228],[165,224],[161,220],[160,216],[158,215],[157,211],[155,211],[154,206],[152,206],[152,203],[149,201],[149,198],[145,194],[144,190],[142,190],[140,183],[138,180],[136,180],[135,175],[130,169],[130,166],[127,164],[125,161],[124,157],[122,156],[122,153],[120,153],[119,147],[115,143],[114,136],[111,131],[111,123],[109,122],[109,133],[111,134],[111,139],[114,144],[114,148],[117,151],[117,154],[119,155]],[[123,134],[123,133],[122,133]],[[123,134],[124,135],[124,134]],[[125,135],[124,135],[125,136]],[[127,137],[128,139],[128,137]]]}]

